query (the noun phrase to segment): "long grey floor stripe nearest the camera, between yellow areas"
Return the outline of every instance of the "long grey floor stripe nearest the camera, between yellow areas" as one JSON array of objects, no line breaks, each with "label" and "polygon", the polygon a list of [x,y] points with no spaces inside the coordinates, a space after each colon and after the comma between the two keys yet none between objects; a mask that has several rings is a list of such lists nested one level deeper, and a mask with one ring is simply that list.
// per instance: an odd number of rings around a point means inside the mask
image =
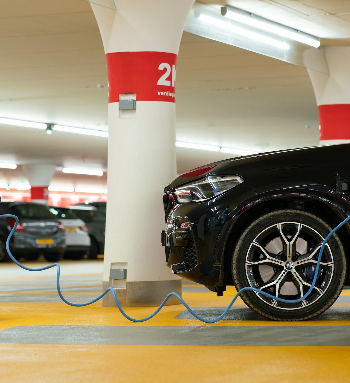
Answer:
[{"label": "long grey floor stripe nearest the camera, between yellow areas", "polygon": [[348,326],[28,326],[2,344],[348,346]]}]

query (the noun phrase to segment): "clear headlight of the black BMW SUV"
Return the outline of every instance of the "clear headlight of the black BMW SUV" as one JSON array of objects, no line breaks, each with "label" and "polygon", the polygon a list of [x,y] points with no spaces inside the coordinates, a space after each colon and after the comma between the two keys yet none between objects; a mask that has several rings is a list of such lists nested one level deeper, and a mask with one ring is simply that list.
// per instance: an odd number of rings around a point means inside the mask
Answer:
[{"label": "clear headlight of the black BMW SUV", "polygon": [[238,175],[208,176],[204,180],[189,183],[175,189],[175,195],[180,203],[190,201],[205,201],[224,191],[234,188],[244,182]]}]

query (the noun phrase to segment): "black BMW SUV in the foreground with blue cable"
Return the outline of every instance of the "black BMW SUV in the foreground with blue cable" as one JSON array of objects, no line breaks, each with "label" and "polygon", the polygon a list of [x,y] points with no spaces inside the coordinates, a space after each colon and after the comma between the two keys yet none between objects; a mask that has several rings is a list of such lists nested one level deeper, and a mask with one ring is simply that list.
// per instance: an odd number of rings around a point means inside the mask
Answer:
[{"label": "black BMW SUV in the foreground with blue cable", "polygon": [[[320,246],[350,215],[350,144],[239,157],[182,174],[164,189],[162,244],[173,273],[221,296],[227,285],[301,298]],[[349,182],[349,183],[348,183]],[[350,225],[322,254],[311,294],[281,303],[253,291],[243,301],[276,320],[312,318],[339,296],[350,256]]]}]

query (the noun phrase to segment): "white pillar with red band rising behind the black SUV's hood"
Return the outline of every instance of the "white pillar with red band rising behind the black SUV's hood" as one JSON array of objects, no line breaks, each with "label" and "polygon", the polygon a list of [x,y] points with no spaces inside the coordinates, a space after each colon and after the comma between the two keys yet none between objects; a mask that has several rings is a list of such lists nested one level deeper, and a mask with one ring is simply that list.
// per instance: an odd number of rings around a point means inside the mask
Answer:
[{"label": "white pillar with red band rising behind the black SUV's hood", "polygon": [[[350,47],[325,47],[329,74],[308,69],[319,110],[320,144],[350,142]],[[312,66],[317,52],[306,51]]]}]

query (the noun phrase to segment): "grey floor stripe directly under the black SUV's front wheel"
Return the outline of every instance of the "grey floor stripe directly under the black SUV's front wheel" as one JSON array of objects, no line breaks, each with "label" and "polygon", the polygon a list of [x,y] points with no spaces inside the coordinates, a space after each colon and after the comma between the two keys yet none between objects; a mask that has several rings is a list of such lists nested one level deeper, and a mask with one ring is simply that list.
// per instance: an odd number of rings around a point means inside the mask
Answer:
[{"label": "grey floor stripe directly under the black SUV's front wheel", "polygon": [[[226,307],[194,307],[193,310],[196,314],[205,319],[215,319],[220,316]],[[182,313],[177,314],[176,319],[194,319],[189,311],[184,310]],[[349,307],[331,307],[323,314],[315,317],[313,320],[350,320],[350,306]],[[223,321],[242,321],[242,320],[258,320],[271,322],[269,319],[262,317],[247,307],[234,307],[225,315]]]}]

